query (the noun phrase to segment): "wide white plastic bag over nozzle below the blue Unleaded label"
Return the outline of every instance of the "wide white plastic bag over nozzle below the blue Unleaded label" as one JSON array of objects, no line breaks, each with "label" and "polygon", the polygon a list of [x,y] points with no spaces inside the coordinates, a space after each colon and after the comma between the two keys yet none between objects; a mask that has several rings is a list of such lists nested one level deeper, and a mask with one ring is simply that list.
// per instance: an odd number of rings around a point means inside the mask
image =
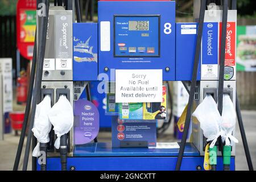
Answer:
[{"label": "wide white plastic bag over nozzle below the blue Unleaded label", "polygon": [[200,122],[204,137],[207,138],[208,142],[212,141],[210,148],[213,148],[220,136],[221,116],[212,96],[207,95],[192,115]]}]

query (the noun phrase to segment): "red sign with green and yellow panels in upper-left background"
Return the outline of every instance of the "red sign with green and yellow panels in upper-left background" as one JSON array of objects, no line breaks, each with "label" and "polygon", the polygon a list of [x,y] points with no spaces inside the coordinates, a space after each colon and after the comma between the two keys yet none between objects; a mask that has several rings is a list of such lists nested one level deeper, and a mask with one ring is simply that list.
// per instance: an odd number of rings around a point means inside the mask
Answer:
[{"label": "red sign with green and yellow panels in upper-left background", "polygon": [[[35,26],[31,15],[36,15],[36,0],[19,0],[16,7],[16,37],[20,54],[28,60],[33,57]],[[32,14],[31,14],[32,13]],[[33,18],[33,17],[32,17]],[[27,23],[27,24],[26,24]],[[26,24],[26,26],[24,26]],[[27,30],[26,30],[27,29]],[[29,30],[29,31],[28,31]]]}]

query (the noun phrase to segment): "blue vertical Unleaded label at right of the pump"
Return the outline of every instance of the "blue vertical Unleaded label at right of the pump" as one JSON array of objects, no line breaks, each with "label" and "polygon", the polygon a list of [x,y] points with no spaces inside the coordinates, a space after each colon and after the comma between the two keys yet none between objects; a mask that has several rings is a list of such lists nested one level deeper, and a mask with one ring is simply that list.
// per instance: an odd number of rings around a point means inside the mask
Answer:
[{"label": "blue vertical Unleaded label at right of the pump", "polygon": [[218,64],[218,23],[204,23],[202,64]]}]

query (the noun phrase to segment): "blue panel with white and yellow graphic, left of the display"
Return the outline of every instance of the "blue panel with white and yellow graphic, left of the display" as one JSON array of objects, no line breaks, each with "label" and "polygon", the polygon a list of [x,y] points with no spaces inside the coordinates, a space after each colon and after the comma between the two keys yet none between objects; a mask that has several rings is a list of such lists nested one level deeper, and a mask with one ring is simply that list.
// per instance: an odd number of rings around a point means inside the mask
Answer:
[{"label": "blue panel with white and yellow graphic, left of the display", "polygon": [[73,80],[93,81],[98,76],[98,25],[73,23]]}]

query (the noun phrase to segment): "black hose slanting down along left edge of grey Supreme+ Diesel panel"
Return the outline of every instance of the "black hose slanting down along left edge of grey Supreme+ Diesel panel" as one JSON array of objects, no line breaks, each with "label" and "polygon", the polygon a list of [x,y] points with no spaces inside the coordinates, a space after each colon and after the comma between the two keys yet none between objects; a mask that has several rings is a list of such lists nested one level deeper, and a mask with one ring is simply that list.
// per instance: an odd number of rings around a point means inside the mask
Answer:
[{"label": "black hose slanting down along left edge of grey Supreme+ Diesel panel", "polygon": [[26,143],[26,150],[24,154],[24,162],[23,162],[23,171],[27,170],[28,164],[28,157],[30,155],[30,144],[31,144],[31,137],[32,137],[32,127],[34,126],[35,120],[35,110],[36,110],[36,102],[37,102],[37,94],[40,94],[41,83],[42,83],[42,75],[43,75],[43,61],[44,61],[44,52],[46,51],[46,34],[47,34],[47,24],[48,24],[48,14],[49,14],[49,0],[43,0],[46,6],[46,16],[40,17],[40,27],[38,28],[39,31],[39,41],[38,41],[38,55],[37,55],[37,63],[36,63],[36,76],[35,76],[35,87],[33,90],[33,97],[32,97],[32,107],[31,107],[31,119],[30,119],[30,126],[28,129],[27,135],[27,143]]}]

